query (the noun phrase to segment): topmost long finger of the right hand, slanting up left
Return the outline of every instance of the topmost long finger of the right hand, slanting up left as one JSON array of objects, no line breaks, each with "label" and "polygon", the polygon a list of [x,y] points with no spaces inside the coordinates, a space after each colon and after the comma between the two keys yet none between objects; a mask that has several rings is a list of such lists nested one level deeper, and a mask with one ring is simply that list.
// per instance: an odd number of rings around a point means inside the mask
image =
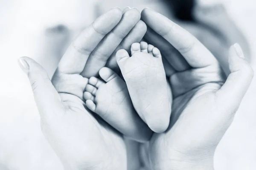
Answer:
[{"label": "topmost long finger of the right hand, slanting up left", "polygon": [[192,34],[181,28],[165,16],[149,9],[143,9],[142,20],[157,34],[165,38],[194,68],[217,64],[212,53]]}]

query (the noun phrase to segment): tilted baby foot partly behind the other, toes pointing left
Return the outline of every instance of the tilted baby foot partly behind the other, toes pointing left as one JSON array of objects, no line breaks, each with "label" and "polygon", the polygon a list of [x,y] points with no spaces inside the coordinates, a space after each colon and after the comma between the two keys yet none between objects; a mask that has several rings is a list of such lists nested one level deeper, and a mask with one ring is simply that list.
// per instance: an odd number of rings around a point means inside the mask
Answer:
[{"label": "tilted baby foot partly behind the other, toes pointing left", "polygon": [[152,131],[134,110],[124,80],[106,67],[99,71],[99,76],[104,81],[90,77],[85,87],[87,108],[125,136],[139,142],[148,141]]}]

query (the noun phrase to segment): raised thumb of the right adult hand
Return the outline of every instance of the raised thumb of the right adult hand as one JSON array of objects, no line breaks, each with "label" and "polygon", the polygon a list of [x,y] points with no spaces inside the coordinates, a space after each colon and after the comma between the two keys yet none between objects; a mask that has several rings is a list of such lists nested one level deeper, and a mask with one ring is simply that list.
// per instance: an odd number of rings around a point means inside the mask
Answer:
[{"label": "raised thumb of the right adult hand", "polygon": [[216,92],[216,96],[222,98],[222,102],[232,101],[233,108],[237,109],[253,78],[253,69],[244,59],[239,44],[230,47],[229,68],[231,73],[224,85]]}]

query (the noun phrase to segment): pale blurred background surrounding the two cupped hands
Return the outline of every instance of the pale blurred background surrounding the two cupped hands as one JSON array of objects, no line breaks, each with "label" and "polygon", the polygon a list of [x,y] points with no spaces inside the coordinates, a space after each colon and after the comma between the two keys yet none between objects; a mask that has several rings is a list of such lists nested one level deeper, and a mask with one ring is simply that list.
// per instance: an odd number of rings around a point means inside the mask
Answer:
[{"label": "pale blurred background surrounding the two cupped hands", "polygon": [[[17,59],[21,56],[32,57],[46,68],[51,77],[70,41],[102,12],[116,6],[120,8],[131,6],[140,10],[150,7],[176,20],[174,14],[170,12],[175,9],[166,8],[165,1],[0,0],[0,170],[63,170],[58,157],[41,133],[40,119],[32,91],[26,75],[17,65]],[[215,23],[219,23],[218,26],[210,25],[209,28],[202,29],[211,32],[211,35],[216,35],[217,39],[219,36],[219,41],[222,42],[220,44],[226,46],[233,42],[233,36],[238,36],[238,40],[244,42],[244,46],[250,47],[250,52],[245,50],[248,54],[247,60],[253,68],[256,68],[255,0],[197,0],[196,3],[205,9],[201,14],[212,10],[211,14],[205,14],[208,15],[208,18],[204,18],[206,23],[207,20],[212,19]],[[219,8],[217,10],[212,8],[216,4],[225,7],[228,19],[221,13],[223,11],[218,11]],[[192,24],[190,21],[178,20],[177,23],[188,31],[194,31],[199,40],[206,41],[203,35],[200,39],[202,24],[200,26],[197,24],[202,20],[200,17],[198,20],[193,21]],[[225,25],[229,22],[232,28]],[[239,34],[236,28],[233,28],[235,26],[239,27]],[[214,29],[211,29],[212,27]],[[217,34],[216,29],[224,34],[227,31],[230,41],[222,40],[223,36]],[[225,54],[225,49],[222,50]],[[218,55],[222,51],[220,49],[212,52]],[[233,124],[218,146],[215,154],[216,170],[256,170],[255,102],[254,78]]]}]

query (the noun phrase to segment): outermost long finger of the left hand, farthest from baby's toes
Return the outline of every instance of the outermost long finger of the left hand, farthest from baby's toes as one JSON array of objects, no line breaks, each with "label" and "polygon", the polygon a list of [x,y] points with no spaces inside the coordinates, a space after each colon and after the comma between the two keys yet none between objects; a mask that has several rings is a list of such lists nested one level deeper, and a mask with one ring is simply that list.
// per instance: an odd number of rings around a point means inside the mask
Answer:
[{"label": "outermost long finger of the left hand, farthest from baby's toes", "polygon": [[58,65],[57,71],[64,74],[80,74],[91,52],[121,20],[122,11],[113,8],[98,17],[72,42]]}]

